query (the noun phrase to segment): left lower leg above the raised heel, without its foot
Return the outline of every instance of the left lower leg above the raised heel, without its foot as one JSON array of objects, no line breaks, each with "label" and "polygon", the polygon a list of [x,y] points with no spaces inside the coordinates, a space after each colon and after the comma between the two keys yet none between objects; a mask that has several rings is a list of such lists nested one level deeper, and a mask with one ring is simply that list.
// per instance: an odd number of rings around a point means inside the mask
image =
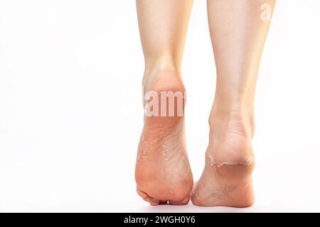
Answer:
[{"label": "left lower leg above the raised heel, without its foot", "polygon": [[160,70],[176,71],[181,60],[193,0],[137,0],[139,31],[144,51],[144,85]]}]

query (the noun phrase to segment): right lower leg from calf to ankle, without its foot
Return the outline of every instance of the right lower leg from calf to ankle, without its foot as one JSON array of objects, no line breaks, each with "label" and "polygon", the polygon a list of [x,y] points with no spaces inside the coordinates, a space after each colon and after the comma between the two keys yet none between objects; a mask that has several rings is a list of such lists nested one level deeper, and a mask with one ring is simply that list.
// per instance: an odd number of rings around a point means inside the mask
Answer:
[{"label": "right lower leg from calf to ankle, without its foot", "polygon": [[[262,6],[272,13],[275,0],[208,0],[208,19],[217,68],[211,116],[240,111],[253,134],[255,85],[260,57],[270,26]],[[224,21],[224,23],[221,23]]]}]

